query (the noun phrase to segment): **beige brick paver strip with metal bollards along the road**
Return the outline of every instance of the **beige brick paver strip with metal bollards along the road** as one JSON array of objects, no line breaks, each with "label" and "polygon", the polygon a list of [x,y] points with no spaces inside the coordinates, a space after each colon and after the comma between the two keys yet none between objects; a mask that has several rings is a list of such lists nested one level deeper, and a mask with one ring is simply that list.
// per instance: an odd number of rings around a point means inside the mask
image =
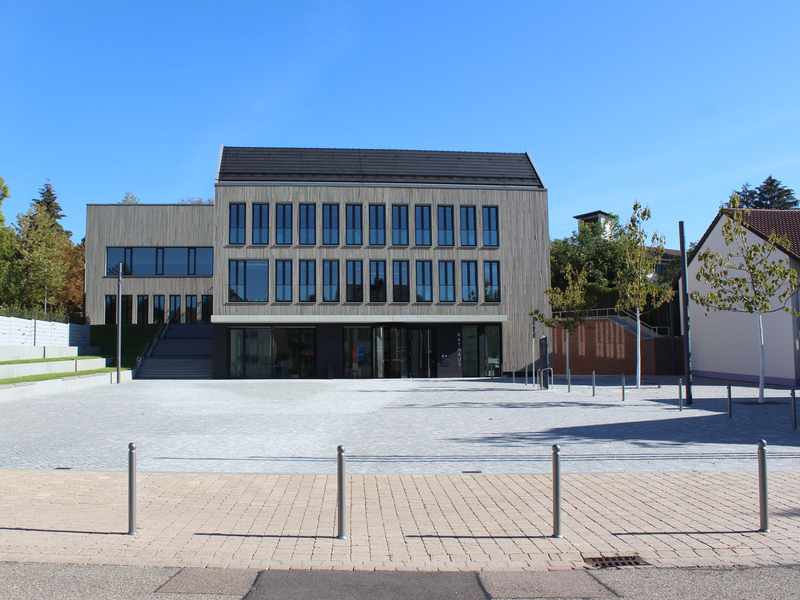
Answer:
[{"label": "beige brick paver strip with metal bollards along the road", "polygon": [[800,563],[800,473],[563,476],[563,539],[546,475],[353,475],[349,538],[336,478],[0,471],[0,562],[270,569],[546,570],[638,554],[668,566]]}]

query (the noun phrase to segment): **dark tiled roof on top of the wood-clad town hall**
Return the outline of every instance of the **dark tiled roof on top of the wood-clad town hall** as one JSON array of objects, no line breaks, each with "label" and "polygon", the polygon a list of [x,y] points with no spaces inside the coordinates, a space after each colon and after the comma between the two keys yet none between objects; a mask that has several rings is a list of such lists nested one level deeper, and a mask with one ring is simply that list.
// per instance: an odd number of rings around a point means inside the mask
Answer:
[{"label": "dark tiled roof on top of the wood-clad town hall", "polygon": [[526,153],[223,146],[217,182],[524,186],[544,189]]}]

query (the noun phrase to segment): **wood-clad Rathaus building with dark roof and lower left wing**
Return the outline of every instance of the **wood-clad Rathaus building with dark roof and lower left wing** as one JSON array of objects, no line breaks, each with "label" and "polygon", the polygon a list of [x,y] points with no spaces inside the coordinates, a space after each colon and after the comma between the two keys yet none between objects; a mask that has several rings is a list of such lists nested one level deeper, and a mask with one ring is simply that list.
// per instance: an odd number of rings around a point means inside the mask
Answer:
[{"label": "wood-clad Rathaus building with dark roof and lower left wing", "polygon": [[214,377],[481,377],[532,358],[527,154],[223,147],[215,204],[90,205],[87,312],[210,322]]}]

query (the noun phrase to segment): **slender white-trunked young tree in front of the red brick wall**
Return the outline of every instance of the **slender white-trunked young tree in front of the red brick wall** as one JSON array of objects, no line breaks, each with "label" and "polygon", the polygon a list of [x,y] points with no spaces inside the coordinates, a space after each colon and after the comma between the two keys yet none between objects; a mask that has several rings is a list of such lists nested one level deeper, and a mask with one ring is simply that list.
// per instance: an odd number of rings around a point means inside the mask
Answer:
[{"label": "slender white-trunked young tree in front of the red brick wall", "polygon": [[636,387],[642,385],[642,311],[658,308],[672,298],[672,290],[653,281],[655,267],[664,256],[664,237],[654,232],[649,244],[642,224],[650,219],[650,209],[633,204],[631,220],[623,227],[620,240],[623,268],[617,273],[617,310],[636,312]]}]

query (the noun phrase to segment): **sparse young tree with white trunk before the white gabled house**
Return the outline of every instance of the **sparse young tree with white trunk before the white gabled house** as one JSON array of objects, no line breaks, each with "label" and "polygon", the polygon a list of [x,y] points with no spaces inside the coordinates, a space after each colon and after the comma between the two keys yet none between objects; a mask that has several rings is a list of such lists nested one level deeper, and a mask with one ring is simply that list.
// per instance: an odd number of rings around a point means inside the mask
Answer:
[{"label": "sparse young tree with white trunk before the white gabled house", "polygon": [[[704,250],[697,259],[700,270],[697,281],[711,287],[707,294],[694,291],[694,302],[709,310],[744,312],[758,315],[758,336],[761,349],[761,370],[758,378],[758,401],[764,402],[764,327],[761,317],[767,313],[786,311],[800,316],[788,304],[800,288],[797,273],[786,259],[773,260],[776,246],[789,248],[789,240],[772,233],[764,243],[748,244],[746,217],[749,209],[740,208],[740,198],[731,195],[722,225],[725,245],[734,246],[725,255]],[[776,303],[773,306],[773,301]]]}]

